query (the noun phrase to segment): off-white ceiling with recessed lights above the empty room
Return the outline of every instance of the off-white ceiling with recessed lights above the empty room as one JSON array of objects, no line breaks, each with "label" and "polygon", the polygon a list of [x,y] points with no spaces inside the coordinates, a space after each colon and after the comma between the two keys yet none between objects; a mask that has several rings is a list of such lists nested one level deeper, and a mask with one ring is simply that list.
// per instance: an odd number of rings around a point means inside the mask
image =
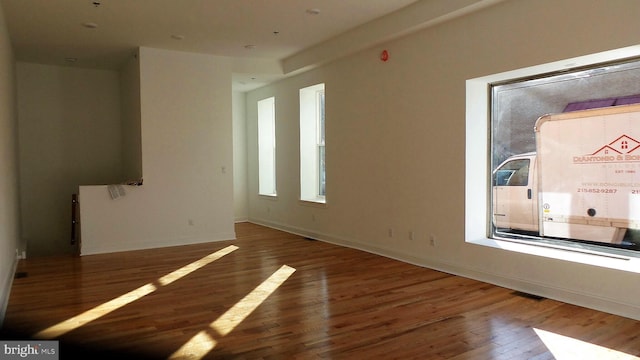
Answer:
[{"label": "off-white ceiling with recessed lights above the empty room", "polygon": [[[307,53],[341,37],[342,45],[320,57],[496,1],[0,0],[0,6],[18,61],[117,69],[139,46],[229,56],[237,58],[234,86],[247,90],[314,65]],[[419,11],[425,18],[416,20]],[[397,17],[393,25],[383,20],[389,14]],[[361,41],[358,30],[371,24],[386,30]]]}]

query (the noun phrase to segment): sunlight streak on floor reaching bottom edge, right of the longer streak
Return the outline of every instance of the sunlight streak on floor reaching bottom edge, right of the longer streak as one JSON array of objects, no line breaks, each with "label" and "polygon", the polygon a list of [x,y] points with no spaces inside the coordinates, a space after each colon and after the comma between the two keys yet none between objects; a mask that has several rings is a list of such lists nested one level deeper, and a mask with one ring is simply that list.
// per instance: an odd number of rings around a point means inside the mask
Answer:
[{"label": "sunlight streak on floor reaching bottom edge, right of the longer streak", "polygon": [[269,276],[268,279],[263,281],[249,294],[247,294],[224,314],[218,317],[218,319],[209,324],[209,328],[197,333],[169,358],[202,359],[217,345],[217,341],[212,338],[211,335],[209,335],[210,332],[215,331],[220,336],[229,334],[260,304],[262,304],[267,299],[267,297],[269,297],[269,295],[271,295],[278,287],[280,287],[280,285],[282,285],[295,271],[296,269],[290,266],[281,266],[280,269]]}]

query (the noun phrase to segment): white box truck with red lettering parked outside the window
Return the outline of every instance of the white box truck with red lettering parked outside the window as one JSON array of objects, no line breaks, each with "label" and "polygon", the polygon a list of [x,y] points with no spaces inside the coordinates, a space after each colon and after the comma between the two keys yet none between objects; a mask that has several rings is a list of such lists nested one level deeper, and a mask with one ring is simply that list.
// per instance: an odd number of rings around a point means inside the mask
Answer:
[{"label": "white box truck with red lettering parked outside the window", "polygon": [[493,172],[496,228],[619,244],[640,229],[640,104],[545,115]]}]

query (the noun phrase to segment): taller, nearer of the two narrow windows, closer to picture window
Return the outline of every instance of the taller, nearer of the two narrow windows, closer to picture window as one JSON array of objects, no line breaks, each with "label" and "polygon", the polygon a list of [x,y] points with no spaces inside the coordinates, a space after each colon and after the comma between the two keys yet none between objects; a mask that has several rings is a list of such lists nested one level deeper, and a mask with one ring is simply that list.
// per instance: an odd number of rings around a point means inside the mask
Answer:
[{"label": "taller, nearer of the two narrow windows, closer to picture window", "polygon": [[300,199],[326,201],[324,84],[300,89]]}]

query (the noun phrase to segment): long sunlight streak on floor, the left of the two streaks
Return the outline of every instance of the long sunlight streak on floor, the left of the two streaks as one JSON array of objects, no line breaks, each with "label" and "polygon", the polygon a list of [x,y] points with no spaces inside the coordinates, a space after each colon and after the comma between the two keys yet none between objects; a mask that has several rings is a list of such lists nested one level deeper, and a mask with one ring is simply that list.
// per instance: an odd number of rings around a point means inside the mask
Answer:
[{"label": "long sunlight streak on floor, the left of the two streaks", "polygon": [[[238,247],[235,245],[227,246],[223,249],[220,249],[212,254],[209,254],[200,260],[196,260],[188,265],[181,267],[180,269],[173,271],[161,278],[158,279],[158,283],[160,286],[166,286],[171,284],[172,282],[181,279],[182,277],[206,266],[207,264],[212,263],[213,261],[220,259],[221,257],[237,250]],[[105,316],[115,310],[120,309],[121,307],[130,304],[146,295],[151,294],[152,292],[159,289],[158,286],[153,283],[149,283],[143,285],[135,290],[132,290],[124,295],[118,296],[117,298],[107,301],[101,305],[98,305],[90,310],[83,312],[77,316],[69,318],[65,321],[62,321],[56,325],[53,325],[47,329],[44,329],[37,334],[34,335],[35,338],[38,339],[53,339],[59,336],[62,336],[69,331],[77,329],[81,326],[86,325],[87,323],[96,320],[102,316]]]}]

